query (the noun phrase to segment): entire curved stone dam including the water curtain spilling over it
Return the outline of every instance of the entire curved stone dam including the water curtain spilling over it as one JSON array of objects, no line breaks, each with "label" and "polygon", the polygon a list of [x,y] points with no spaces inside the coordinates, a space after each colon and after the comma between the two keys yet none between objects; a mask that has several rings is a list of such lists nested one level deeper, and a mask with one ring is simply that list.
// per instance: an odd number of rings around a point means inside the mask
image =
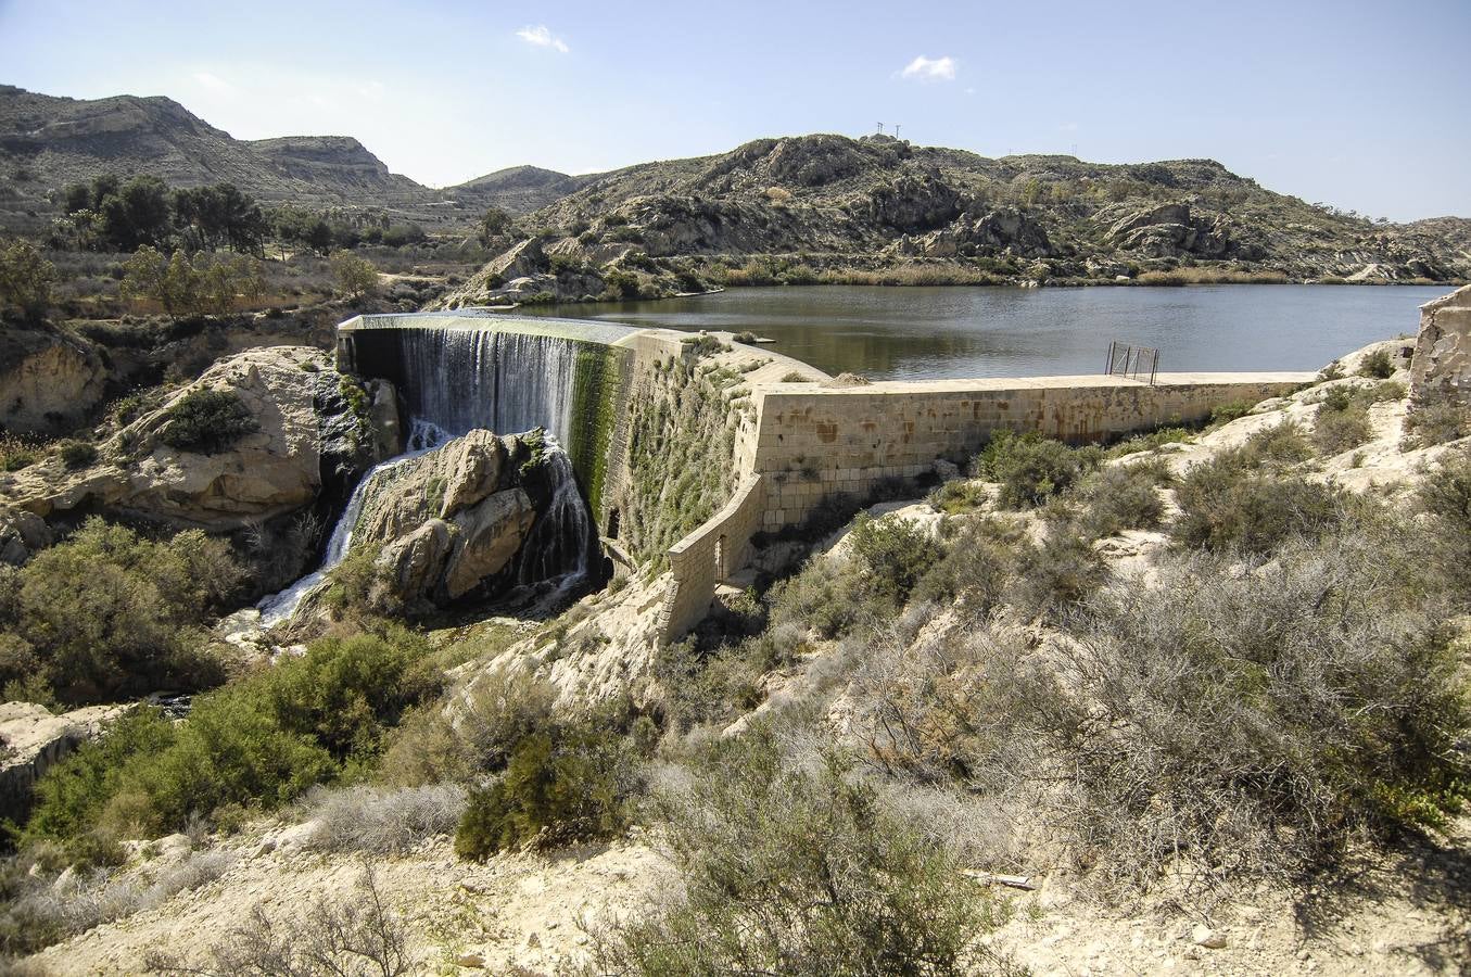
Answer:
[{"label": "entire curved stone dam including the water curtain spilling over it", "polygon": [[344,372],[387,380],[438,437],[544,427],[565,447],[606,552],[668,566],[677,639],[740,571],[756,533],[836,496],[964,463],[994,431],[1108,441],[1196,424],[1311,372],[868,383],[728,333],[690,334],[480,309],[360,315],[337,327]]}]

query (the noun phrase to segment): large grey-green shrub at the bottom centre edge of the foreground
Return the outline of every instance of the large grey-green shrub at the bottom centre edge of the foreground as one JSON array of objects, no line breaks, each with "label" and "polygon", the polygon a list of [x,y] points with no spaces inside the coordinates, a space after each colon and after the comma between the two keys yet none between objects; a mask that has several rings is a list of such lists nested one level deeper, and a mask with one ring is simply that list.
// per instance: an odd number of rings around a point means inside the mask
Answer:
[{"label": "large grey-green shrub at the bottom centre edge of the foreground", "polygon": [[683,893],[594,933],[599,973],[1006,973],[984,892],[834,755],[813,774],[766,733],[725,742],[666,806]]}]

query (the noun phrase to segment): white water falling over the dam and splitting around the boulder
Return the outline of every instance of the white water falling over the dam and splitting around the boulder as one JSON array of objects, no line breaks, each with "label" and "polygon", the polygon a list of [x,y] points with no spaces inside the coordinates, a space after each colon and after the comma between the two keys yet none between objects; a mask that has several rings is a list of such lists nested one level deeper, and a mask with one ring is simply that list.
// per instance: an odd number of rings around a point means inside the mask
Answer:
[{"label": "white water falling over the dam and splitting around the boulder", "polygon": [[516,555],[515,583],[556,581],[559,590],[587,578],[596,530],[578,490],[572,461],[560,449],[574,437],[578,347],[574,340],[494,328],[385,328],[365,343],[357,366],[387,377],[402,393],[410,418],[409,452],[372,468],[357,483],[332,527],[322,566],[287,590],[263,599],[262,624],[291,617],[302,599],[352,547],[365,500],[393,478],[407,458],[440,447],[475,428],[497,434],[544,428],[550,502]]}]

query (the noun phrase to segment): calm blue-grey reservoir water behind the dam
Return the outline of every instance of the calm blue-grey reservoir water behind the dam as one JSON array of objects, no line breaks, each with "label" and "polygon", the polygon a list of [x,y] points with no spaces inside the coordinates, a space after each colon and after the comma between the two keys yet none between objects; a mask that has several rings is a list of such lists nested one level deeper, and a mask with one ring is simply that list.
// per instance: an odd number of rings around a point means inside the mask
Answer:
[{"label": "calm blue-grey reservoir water behind the dam", "polygon": [[1109,340],[1159,349],[1162,371],[1318,369],[1420,328],[1450,285],[1186,288],[731,288],[715,296],[522,309],[677,330],[752,331],[830,374],[872,380],[1103,371]]}]

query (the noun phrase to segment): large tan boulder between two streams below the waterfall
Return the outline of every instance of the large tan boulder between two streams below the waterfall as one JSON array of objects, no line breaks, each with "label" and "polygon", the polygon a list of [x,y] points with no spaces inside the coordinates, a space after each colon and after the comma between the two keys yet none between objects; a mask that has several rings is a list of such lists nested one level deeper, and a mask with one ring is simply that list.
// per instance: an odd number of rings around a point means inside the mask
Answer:
[{"label": "large tan boulder between two streams below the waterfall", "polygon": [[353,544],[382,547],[378,565],[410,606],[478,590],[507,571],[537,521],[521,472],[533,452],[521,436],[471,431],[380,472]]}]

